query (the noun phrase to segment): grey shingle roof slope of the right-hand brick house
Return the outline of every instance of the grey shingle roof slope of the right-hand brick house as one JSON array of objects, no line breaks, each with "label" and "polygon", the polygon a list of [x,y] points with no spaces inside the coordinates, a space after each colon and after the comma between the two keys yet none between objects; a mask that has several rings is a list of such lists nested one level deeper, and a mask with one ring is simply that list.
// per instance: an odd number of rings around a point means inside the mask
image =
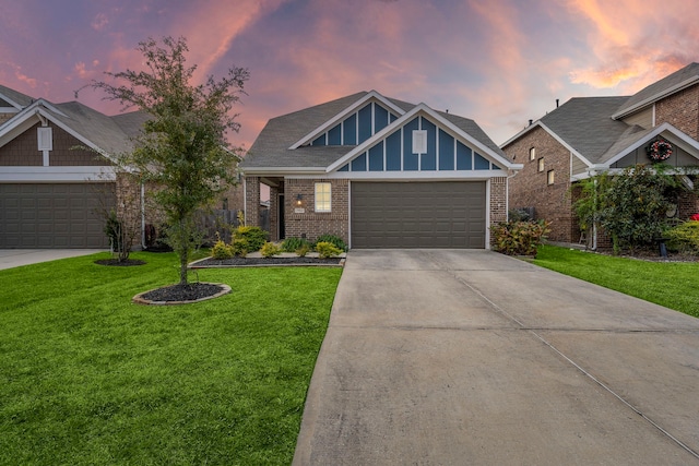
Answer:
[{"label": "grey shingle roof slope of the right-hand brick house", "polygon": [[571,98],[540,121],[593,164],[628,130],[611,118],[628,97]]}]

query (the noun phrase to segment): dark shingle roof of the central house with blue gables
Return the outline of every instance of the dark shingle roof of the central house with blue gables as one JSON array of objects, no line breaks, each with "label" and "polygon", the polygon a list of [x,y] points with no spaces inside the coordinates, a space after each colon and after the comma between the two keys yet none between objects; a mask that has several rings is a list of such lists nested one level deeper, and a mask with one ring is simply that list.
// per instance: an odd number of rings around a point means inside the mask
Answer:
[{"label": "dark shingle roof of the central house with blue gables", "polygon": [[[289,147],[367,94],[367,92],[352,94],[271,119],[250,147],[241,167],[299,169],[328,167],[355,146],[303,146],[295,150],[289,150]],[[387,99],[404,111],[410,111],[415,107],[415,104],[388,97]],[[445,112],[439,112],[439,115],[495,153],[507,158],[497,144],[473,120]]]}]

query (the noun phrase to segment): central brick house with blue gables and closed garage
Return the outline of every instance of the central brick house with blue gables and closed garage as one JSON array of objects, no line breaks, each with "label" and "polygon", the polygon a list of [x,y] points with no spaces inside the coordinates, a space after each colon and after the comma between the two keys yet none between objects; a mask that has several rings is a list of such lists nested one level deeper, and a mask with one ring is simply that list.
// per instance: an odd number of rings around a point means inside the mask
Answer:
[{"label": "central brick house with blue gables and closed garage", "polygon": [[271,119],[241,163],[246,222],[270,190],[272,240],[489,248],[521,168],[467,118],[360,92]]}]

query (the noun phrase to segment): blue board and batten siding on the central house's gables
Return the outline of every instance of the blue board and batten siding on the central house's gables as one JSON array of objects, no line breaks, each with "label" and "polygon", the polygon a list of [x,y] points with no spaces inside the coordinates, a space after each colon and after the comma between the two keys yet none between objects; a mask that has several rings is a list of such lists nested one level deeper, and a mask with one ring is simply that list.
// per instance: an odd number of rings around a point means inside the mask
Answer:
[{"label": "blue board and batten siding on the central house's gables", "polygon": [[[369,103],[341,123],[316,138],[311,145],[358,145],[398,117],[377,103]],[[413,131],[426,131],[427,150],[413,151]],[[339,171],[471,171],[500,167],[458,141],[429,119],[418,116],[378,141]]]}]

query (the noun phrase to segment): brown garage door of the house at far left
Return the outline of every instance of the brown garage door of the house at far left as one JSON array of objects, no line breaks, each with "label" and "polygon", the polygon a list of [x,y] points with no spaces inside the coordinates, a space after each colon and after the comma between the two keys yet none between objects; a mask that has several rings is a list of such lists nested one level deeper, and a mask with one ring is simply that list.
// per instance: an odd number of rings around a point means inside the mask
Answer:
[{"label": "brown garage door of the house at far left", "polygon": [[102,199],[114,184],[0,183],[0,248],[107,248]]}]

